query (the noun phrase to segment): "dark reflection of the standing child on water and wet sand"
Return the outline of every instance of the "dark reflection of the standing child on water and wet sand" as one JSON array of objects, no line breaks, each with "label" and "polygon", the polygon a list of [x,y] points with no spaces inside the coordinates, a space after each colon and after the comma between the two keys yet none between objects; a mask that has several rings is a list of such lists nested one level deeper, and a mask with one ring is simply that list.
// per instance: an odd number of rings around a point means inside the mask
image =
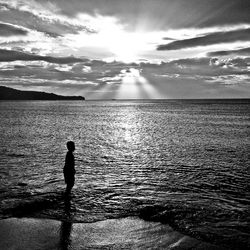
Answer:
[{"label": "dark reflection of the standing child on water and wet sand", "polygon": [[60,231],[60,247],[62,250],[70,249],[71,245],[70,234],[72,230],[72,222],[70,221],[70,207],[71,207],[70,197],[66,196],[64,198],[64,212],[66,220],[62,221],[61,231]]}]

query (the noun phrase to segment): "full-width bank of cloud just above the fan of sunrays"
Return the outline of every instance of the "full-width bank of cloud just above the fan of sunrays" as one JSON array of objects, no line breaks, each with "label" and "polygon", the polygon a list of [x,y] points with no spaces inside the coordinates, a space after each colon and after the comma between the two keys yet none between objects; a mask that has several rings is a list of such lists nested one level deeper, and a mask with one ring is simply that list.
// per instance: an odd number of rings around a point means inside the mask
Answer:
[{"label": "full-width bank of cloud just above the fan of sunrays", "polygon": [[[141,76],[163,79],[205,79],[213,76],[249,75],[250,57],[186,58],[161,62],[122,63],[76,57],[52,57],[22,51],[0,50],[2,76],[30,76],[34,79],[82,80],[97,84],[110,83],[140,72]],[[132,69],[132,70],[131,70]]]}]

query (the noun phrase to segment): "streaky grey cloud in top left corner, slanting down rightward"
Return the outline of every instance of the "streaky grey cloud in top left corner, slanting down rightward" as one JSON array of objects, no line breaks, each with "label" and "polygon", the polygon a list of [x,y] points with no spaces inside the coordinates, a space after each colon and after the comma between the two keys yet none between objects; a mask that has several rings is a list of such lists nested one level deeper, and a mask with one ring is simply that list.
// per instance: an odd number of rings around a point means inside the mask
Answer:
[{"label": "streaky grey cloud in top left corner, slanting down rightward", "polygon": [[65,34],[77,34],[79,31],[94,32],[75,18],[58,14],[57,5],[51,2],[0,0],[0,7],[8,10],[1,11],[0,9],[0,21],[22,25],[54,38]]}]

